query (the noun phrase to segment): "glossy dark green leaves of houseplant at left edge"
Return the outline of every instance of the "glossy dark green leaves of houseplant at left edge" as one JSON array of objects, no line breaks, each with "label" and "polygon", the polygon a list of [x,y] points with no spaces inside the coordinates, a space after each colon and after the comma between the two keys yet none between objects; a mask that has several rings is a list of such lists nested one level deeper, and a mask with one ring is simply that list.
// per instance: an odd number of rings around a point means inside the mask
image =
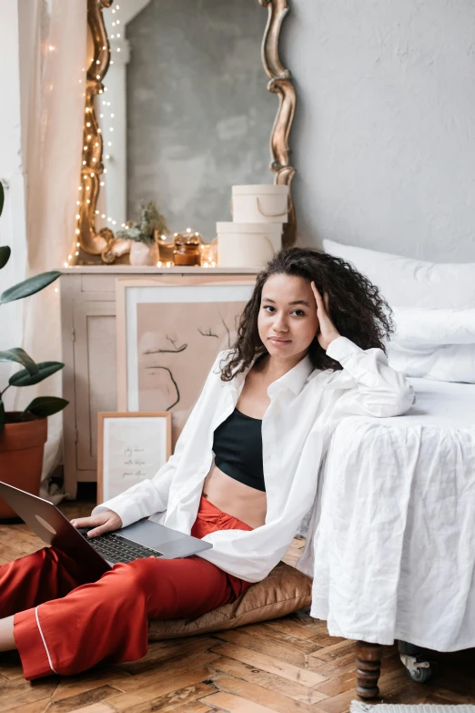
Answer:
[{"label": "glossy dark green leaves of houseplant at left edge", "polygon": [[[4,199],[4,187],[0,182],[0,216],[2,215],[4,207]],[[0,246],[0,270],[5,268],[6,263],[10,259],[10,255],[10,248]],[[13,300],[21,300],[24,297],[35,294],[35,292],[44,290],[45,287],[57,280],[60,274],[58,270],[51,270],[49,272],[43,272],[41,275],[28,278],[28,280],[24,280],[23,282],[19,282],[17,285],[14,285],[14,287],[10,287],[0,294],[0,304],[12,302]],[[5,389],[3,391],[0,390],[0,433],[4,429],[5,423],[30,421],[32,416],[34,418],[46,418],[66,408],[69,403],[66,399],[60,399],[57,396],[38,396],[26,406],[22,413],[6,413],[3,396],[10,386],[33,386],[35,383],[47,379],[51,374],[59,372],[65,365],[61,362],[36,363],[25,350],[19,347],[0,351],[0,362],[15,362],[22,367],[18,372],[12,374]]]}]

